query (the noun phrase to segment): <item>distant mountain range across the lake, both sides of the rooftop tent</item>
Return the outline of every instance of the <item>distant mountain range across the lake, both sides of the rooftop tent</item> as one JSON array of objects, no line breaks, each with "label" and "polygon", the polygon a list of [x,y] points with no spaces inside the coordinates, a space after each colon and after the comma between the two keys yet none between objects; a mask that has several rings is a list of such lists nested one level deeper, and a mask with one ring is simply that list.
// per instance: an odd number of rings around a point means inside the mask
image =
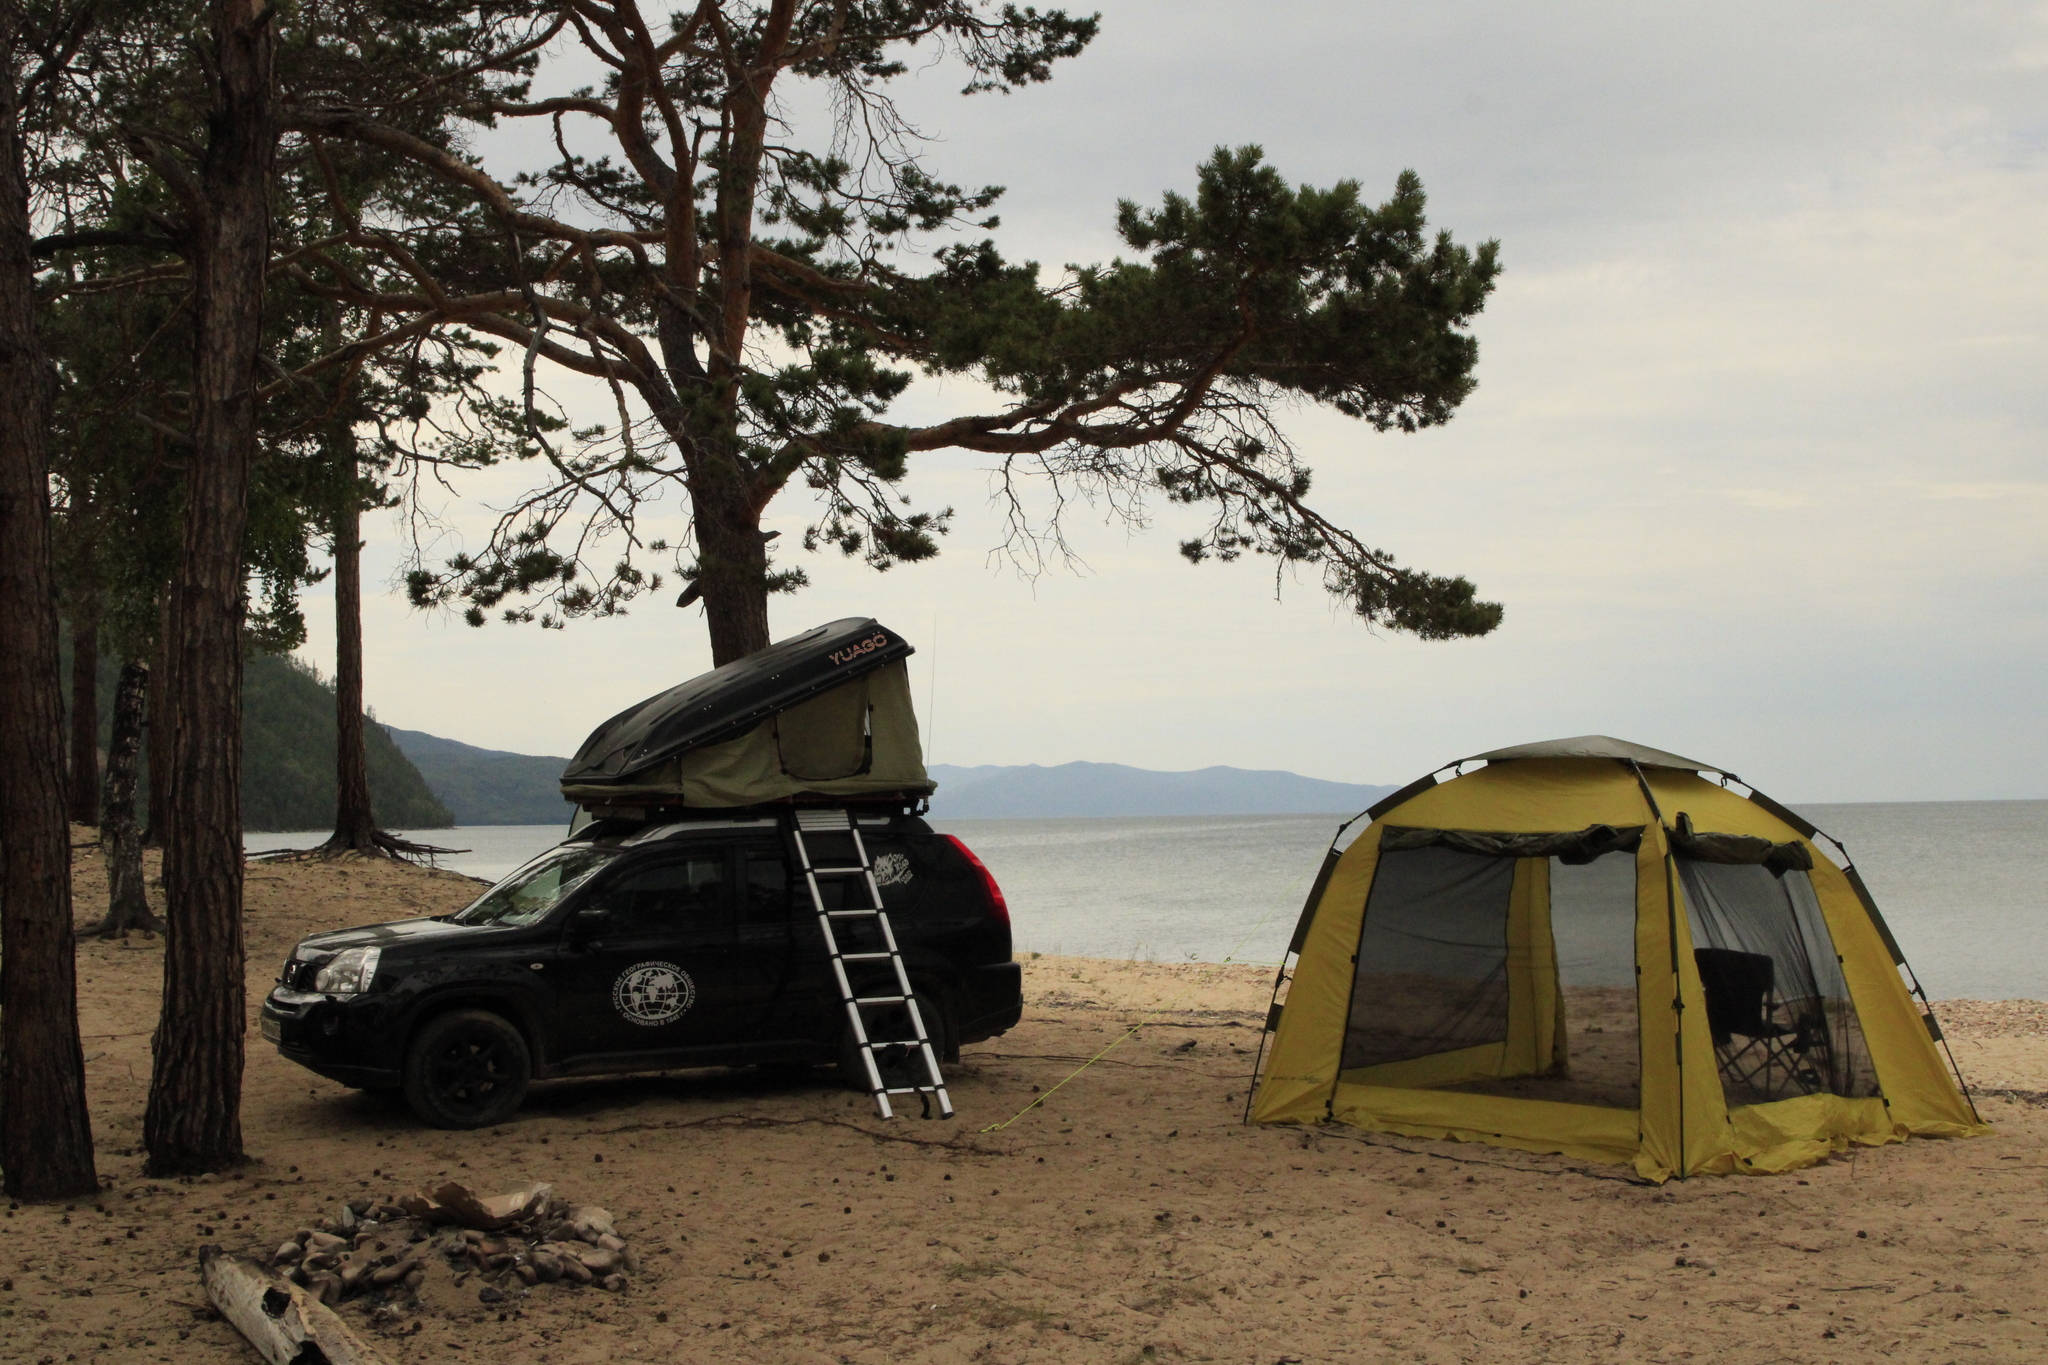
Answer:
[{"label": "distant mountain range across the lake, both sides of the rooftop tent", "polygon": [[[477,749],[422,731],[389,731],[457,825],[559,825],[569,759]],[[1090,814],[1352,814],[1391,786],[1321,782],[1290,772],[1200,767],[1165,774],[1122,763],[956,767],[932,763],[938,819],[1049,819]]]}]

